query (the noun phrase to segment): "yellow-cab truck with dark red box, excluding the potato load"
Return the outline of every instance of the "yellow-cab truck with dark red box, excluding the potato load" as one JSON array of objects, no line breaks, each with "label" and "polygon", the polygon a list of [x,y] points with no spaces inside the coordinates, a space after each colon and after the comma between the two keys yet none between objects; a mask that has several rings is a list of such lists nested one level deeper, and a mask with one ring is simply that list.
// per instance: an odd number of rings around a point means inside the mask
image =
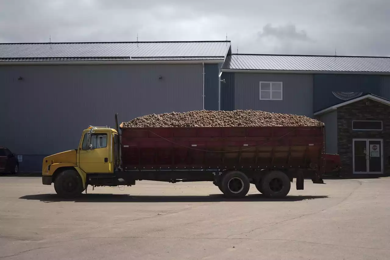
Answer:
[{"label": "yellow-cab truck with dark red box, excluding the potato load", "polygon": [[[324,183],[324,124],[271,127],[89,126],[74,150],[43,159],[42,183],[63,198],[88,185],[136,181],[213,182],[228,198],[242,198],[254,184],[269,198],[283,198],[296,180]],[[334,159],[334,157],[332,157]]]}]

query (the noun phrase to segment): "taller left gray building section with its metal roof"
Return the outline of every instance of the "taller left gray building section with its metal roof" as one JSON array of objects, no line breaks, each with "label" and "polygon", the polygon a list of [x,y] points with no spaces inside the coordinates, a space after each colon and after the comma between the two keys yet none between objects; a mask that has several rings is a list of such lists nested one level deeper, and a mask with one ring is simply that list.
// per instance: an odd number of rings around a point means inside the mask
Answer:
[{"label": "taller left gray building section with its metal roof", "polygon": [[40,171],[89,125],[218,110],[229,41],[0,44],[0,145]]}]

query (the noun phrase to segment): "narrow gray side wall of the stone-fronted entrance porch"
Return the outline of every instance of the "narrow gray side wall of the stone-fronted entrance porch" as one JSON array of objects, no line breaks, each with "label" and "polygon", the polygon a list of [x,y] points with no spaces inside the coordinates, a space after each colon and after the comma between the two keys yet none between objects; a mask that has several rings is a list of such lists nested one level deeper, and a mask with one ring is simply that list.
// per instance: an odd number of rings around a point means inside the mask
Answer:
[{"label": "narrow gray side wall of the stone-fronted entrance porch", "polygon": [[326,153],[337,153],[337,110],[321,115],[319,121],[325,124]]}]

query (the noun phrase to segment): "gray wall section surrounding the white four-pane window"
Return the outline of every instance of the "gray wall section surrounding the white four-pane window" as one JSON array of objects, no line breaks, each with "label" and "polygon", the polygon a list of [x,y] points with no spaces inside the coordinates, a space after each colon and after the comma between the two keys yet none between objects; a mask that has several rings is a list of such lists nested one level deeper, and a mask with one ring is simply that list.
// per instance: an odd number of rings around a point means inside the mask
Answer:
[{"label": "gray wall section surrounding the white four-pane window", "polygon": [[[283,100],[260,100],[261,81],[283,82]],[[313,77],[305,74],[236,73],[235,109],[313,116]]]}]

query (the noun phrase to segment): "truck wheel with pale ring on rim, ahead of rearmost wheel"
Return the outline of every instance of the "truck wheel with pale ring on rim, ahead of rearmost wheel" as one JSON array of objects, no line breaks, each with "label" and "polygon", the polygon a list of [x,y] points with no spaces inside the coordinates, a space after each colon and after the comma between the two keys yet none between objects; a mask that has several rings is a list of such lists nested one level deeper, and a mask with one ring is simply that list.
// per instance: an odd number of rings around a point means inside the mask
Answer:
[{"label": "truck wheel with pale ring on rim, ahead of rearmost wheel", "polygon": [[230,171],[222,178],[220,190],[228,198],[243,198],[250,187],[249,179],[241,171]]}]

